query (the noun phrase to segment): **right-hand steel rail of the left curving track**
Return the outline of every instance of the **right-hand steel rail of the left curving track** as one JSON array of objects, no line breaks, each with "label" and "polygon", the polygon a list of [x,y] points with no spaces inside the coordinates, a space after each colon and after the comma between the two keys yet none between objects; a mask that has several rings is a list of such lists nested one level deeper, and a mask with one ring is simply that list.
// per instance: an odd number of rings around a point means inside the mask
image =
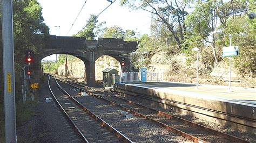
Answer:
[{"label": "right-hand steel rail of the left curving track", "polygon": [[[103,119],[101,119],[100,117],[98,117],[97,115],[93,114],[89,109],[87,109],[85,106],[82,105],[82,103],[78,102],[75,98],[73,98],[68,92],[66,92],[57,82],[56,78],[55,78],[56,83],[58,84],[59,88],[63,90],[63,92],[65,92],[66,95],[68,95],[69,98],[72,99],[72,101],[74,101],[80,108],[82,108],[85,112],[87,112],[92,118],[94,118],[95,120],[99,121],[99,123],[102,126],[105,126],[107,128],[107,130],[113,132],[117,138],[121,139],[123,142],[133,142],[132,140],[130,140],[129,138],[125,137],[124,134],[120,133],[118,130],[116,130],[116,128],[112,127],[111,125],[107,124]],[[69,83],[66,83],[69,84]],[[70,84],[72,85],[72,84]]]}]

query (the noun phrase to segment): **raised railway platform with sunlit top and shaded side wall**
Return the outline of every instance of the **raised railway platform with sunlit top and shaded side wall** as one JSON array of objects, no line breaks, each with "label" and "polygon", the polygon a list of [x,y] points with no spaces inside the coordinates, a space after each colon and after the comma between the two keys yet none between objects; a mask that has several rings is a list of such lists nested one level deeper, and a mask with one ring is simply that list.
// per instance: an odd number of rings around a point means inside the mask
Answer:
[{"label": "raised railway platform with sunlit top and shaded side wall", "polygon": [[[117,83],[114,90],[164,109],[256,133],[256,89],[177,82]],[[151,102],[153,101],[153,102]]]}]

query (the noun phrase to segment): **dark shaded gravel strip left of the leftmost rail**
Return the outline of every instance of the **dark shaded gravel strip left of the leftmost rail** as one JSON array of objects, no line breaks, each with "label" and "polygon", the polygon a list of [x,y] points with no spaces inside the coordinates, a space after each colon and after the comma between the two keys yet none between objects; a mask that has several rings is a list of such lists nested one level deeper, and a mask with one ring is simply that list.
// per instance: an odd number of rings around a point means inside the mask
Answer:
[{"label": "dark shaded gravel strip left of the leftmost rail", "polygon": [[37,105],[33,109],[35,116],[17,127],[17,141],[80,142],[56,103],[45,103],[45,98],[51,97],[47,82],[48,76],[44,76],[44,83],[38,89]]}]

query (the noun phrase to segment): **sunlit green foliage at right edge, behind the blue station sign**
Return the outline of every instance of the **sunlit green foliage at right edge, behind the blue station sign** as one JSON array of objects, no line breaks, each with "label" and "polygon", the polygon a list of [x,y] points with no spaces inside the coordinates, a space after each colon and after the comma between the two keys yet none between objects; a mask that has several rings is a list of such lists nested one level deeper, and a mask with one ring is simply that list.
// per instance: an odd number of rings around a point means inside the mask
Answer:
[{"label": "sunlit green foliage at right edge, behind the blue station sign", "polygon": [[[228,19],[225,29],[225,33],[247,31],[246,36],[233,35],[232,45],[239,46],[239,55],[233,57],[235,67],[239,69],[241,74],[249,74],[250,76],[253,76],[256,70],[255,22],[256,19],[251,20],[247,15],[242,15]],[[226,44],[229,44],[229,38],[226,38],[225,41]]]}]

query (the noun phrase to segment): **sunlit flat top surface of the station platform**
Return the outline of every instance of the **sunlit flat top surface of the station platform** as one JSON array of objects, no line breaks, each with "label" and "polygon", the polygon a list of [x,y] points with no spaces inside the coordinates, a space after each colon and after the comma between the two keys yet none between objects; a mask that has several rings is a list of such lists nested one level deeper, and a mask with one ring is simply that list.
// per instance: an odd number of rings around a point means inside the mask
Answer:
[{"label": "sunlit flat top surface of the station platform", "polygon": [[228,87],[220,85],[199,84],[198,89],[196,89],[196,84],[178,82],[140,82],[125,84],[149,88],[155,91],[171,92],[172,94],[212,99],[256,108],[256,89],[254,88],[231,87],[232,92],[229,92]]}]

